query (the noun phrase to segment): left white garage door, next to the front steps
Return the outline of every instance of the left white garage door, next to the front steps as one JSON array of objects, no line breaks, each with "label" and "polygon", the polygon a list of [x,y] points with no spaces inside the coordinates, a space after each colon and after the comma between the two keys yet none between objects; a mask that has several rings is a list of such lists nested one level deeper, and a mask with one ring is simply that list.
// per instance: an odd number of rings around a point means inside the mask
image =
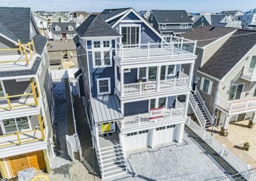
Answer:
[{"label": "left white garage door, next to the front steps", "polygon": [[124,147],[125,150],[134,150],[137,148],[148,147],[150,136],[148,130],[138,131],[134,133],[125,134]]}]

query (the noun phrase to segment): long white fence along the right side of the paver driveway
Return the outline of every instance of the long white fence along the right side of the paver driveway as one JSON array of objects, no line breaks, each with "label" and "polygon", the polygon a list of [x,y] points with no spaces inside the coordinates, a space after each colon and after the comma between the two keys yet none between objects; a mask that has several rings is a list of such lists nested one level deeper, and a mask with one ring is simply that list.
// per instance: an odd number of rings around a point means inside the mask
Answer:
[{"label": "long white fence along the right side of the paver driveway", "polygon": [[250,170],[250,165],[243,163],[236,155],[225,148],[225,145],[222,145],[217,141],[211,134],[207,133],[205,129],[200,127],[196,122],[189,119],[186,121],[186,126],[188,126],[195,134],[197,134],[202,140],[209,145],[215,152],[217,152],[225,161],[227,161],[230,166],[232,166],[237,172],[250,181],[256,180],[256,172]]}]

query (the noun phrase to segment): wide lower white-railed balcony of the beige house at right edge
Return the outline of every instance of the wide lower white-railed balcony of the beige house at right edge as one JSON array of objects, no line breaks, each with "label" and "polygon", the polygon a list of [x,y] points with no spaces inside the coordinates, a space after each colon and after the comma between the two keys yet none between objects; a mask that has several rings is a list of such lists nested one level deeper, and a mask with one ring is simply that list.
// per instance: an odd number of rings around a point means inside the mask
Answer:
[{"label": "wide lower white-railed balcony of the beige house at right edge", "polygon": [[225,101],[219,98],[217,106],[228,113],[252,112],[256,110],[256,98],[248,98],[237,101]]}]

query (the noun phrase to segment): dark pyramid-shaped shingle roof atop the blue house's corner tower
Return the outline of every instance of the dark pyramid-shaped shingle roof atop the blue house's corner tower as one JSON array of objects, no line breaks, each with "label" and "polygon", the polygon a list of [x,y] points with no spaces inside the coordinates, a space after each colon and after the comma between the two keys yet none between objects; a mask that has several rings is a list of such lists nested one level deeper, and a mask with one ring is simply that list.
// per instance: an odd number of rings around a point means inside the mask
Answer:
[{"label": "dark pyramid-shaped shingle roof atop the blue house's corner tower", "polygon": [[90,15],[83,24],[76,29],[77,34],[81,37],[93,36],[120,36],[105,20],[99,15]]}]

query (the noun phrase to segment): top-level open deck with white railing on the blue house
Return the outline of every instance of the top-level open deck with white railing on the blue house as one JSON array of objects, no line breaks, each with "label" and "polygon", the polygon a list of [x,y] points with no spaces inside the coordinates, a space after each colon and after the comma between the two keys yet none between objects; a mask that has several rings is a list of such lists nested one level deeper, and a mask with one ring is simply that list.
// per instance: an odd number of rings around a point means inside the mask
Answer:
[{"label": "top-level open deck with white railing on the blue house", "polygon": [[196,41],[185,38],[172,37],[170,43],[147,43],[136,45],[123,45],[116,41],[115,58],[119,61],[140,61],[148,59],[170,59],[195,55]]}]

